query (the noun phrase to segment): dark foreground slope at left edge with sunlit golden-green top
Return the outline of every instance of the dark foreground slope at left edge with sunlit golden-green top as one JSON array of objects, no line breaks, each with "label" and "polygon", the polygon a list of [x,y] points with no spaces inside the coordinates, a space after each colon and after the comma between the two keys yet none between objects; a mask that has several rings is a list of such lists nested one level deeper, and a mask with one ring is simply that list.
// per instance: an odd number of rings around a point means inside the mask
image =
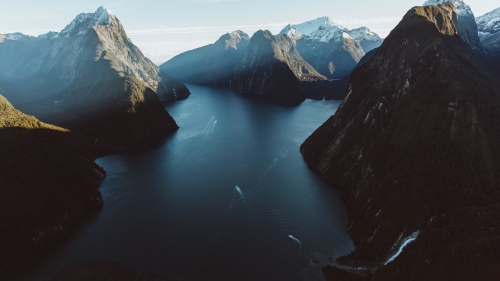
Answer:
[{"label": "dark foreground slope at left edge with sunlit golden-green top", "polygon": [[21,113],[0,95],[0,273],[102,203],[97,188],[104,170],[72,134]]}]

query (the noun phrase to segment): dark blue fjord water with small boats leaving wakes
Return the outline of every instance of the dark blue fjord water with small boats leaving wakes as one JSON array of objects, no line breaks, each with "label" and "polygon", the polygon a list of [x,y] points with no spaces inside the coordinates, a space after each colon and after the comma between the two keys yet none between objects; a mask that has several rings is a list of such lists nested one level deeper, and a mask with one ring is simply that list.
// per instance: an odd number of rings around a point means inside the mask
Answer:
[{"label": "dark blue fjord water with small boats leaving wakes", "polygon": [[339,192],[299,151],[339,101],[287,107],[188,87],[167,106],[180,129],[98,159],[102,208],[12,279],[50,280],[90,261],[175,280],[315,280],[322,266],[311,260],[353,250]]}]

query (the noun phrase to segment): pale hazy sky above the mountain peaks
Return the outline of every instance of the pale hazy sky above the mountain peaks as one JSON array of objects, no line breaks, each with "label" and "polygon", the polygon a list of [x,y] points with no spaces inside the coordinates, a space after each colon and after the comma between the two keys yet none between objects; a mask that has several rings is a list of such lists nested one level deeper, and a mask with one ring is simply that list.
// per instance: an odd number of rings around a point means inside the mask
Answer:
[{"label": "pale hazy sky above the mountain peaks", "polygon": [[[61,31],[79,13],[104,5],[132,42],[154,63],[242,30],[277,34],[289,23],[328,16],[352,29],[366,26],[386,37],[413,6],[425,0],[0,0],[0,34],[37,36]],[[476,16],[500,7],[498,0],[469,0]]]}]

